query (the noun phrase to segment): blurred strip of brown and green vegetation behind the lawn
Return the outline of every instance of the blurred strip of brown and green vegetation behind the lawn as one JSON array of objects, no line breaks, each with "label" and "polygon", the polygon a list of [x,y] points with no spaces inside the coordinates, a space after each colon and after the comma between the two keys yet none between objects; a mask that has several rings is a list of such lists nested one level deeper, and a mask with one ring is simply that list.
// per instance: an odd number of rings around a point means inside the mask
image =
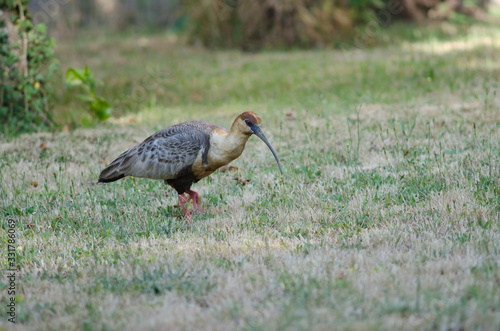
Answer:
[{"label": "blurred strip of brown and green vegetation behind the lawn", "polygon": [[[32,0],[57,38],[82,29],[184,32],[207,47],[339,46],[355,29],[402,21],[486,20],[495,0]],[[372,41],[376,42],[376,41]]]}]

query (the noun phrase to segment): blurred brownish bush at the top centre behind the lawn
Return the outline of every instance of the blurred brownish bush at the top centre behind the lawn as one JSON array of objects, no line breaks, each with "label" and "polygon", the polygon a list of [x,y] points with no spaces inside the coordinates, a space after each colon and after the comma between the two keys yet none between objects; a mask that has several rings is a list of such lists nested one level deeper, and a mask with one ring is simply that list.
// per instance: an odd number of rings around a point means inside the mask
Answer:
[{"label": "blurred brownish bush at the top centre behind the lawn", "polygon": [[188,37],[207,47],[335,45],[364,23],[378,0],[189,0]]}]

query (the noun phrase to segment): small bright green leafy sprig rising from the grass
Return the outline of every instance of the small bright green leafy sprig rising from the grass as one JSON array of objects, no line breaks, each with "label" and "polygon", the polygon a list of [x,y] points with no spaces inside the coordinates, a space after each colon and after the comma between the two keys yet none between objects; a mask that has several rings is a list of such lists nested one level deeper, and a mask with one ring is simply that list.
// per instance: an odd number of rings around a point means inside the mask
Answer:
[{"label": "small bright green leafy sprig rising from the grass", "polygon": [[[96,96],[97,82],[92,72],[89,71],[88,66],[85,66],[83,70],[69,68],[66,71],[66,86],[79,86],[85,91],[85,94],[80,94],[78,98],[88,103],[90,112],[94,118],[99,121],[105,121],[111,116],[112,109],[109,102]],[[83,124],[90,124],[90,120],[87,117],[83,117],[82,122]]]}]

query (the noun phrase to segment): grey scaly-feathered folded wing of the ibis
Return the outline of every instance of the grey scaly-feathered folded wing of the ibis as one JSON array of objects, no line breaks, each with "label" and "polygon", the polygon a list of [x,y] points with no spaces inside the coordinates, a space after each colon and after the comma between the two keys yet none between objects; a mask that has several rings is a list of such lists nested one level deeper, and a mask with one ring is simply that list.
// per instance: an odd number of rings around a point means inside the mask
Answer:
[{"label": "grey scaly-feathered folded wing of the ibis", "polygon": [[209,148],[209,128],[192,122],[174,125],[120,155],[102,171],[100,178],[123,175],[172,179],[190,167],[200,151],[204,155]]}]

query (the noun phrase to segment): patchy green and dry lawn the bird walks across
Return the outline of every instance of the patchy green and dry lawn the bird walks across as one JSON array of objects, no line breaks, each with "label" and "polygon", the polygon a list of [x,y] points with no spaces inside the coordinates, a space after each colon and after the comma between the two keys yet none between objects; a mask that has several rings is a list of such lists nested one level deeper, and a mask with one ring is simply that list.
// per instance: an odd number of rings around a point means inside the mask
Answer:
[{"label": "patchy green and dry lawn the bird walks across", "polygon": [[[15,328],[498,329],[499,34],[347,53],[210,53],[163,36],[61,45],[63,66],[89,64],[130,109],[1,141]],[[159,68],[155,88],[145,68]],[[191,225],[161,181],[93,184],[157,129],[228,127],[244,110],[285,175],[252,138],[235,171],[195,185],[206,213]]]}]

